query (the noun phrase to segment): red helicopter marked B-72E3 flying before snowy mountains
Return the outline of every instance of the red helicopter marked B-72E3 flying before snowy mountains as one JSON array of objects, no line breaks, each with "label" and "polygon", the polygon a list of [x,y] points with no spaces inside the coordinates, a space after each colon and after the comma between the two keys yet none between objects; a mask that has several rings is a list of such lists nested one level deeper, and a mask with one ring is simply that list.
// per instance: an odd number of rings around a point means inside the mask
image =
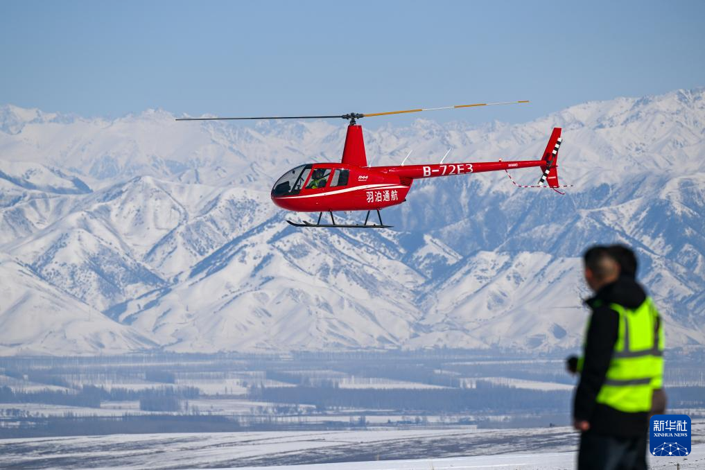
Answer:
[{"label": "red helicopter marked B-72E3 flying before snowy mountains", "polygon": [[[348,134],[343,147],[341,163],[308,163],[297,166],[284,173],[276,180],[271,190],[271,199],[277,206],[288,211],[318,212],[317,223],[296,223],[287,221],[296,227],[324,228],[389,228],[384,225],[380,209],[405,202],[406,195],[416,179],[436,178],[438,176],[467,175],[485,171],[507,171],[515,168],[539,167],[543,174],[536,186],[551,187],[558,184],[558,148],[561,137],[560,128],[554,128],[548,139],[546,150],[541,159],[516,161],[482,161],[429,163],[426,165],[404,166],[405,161],[397,166],[367,166],[367,156],[362,140],[362,127],[357,119],[371,116],[388,116],[400,113],[417,113],[439,109],[458,109],[476,106],[493,106],[498,104],[518,104],[529,101],[509,101],[506,103],[477,103],[445,106],[442,108],[407,109],[405,111],[388,111],[386,113],[360,114],[349,113],[341,116],[272,116],[256,118],[180,118],[177,120],[250,120],[250,119],[326,119],[343,118],[349,120]],[[447,154],[446,154],[447,155]],[[408,157],[408,156],[407,156]],[[405,159],[406,160],[406,159]],[[546,185],[547,184],[547,185]],[[516,185],[516,183],[515,183]],[[558,191],[558,190],[556,190]],[[367,211],[362,224],[336,223],[333,211]],[[379,224],[367,223],[371,211],[376,211]],[[321,216],[328,212],[331,223],[321,223]]]}]

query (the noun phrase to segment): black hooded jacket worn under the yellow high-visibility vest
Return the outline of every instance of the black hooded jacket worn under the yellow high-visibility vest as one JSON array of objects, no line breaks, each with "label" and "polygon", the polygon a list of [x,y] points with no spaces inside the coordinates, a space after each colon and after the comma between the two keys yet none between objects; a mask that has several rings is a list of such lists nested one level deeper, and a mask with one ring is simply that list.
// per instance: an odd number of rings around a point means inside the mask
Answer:
[{"label": "black hooded jacket worn under the yellow high-visibility vest", "polygon": [[604,435],[635,437],[649,427],[648,413],[626,413],[597,403],[605,381],[619,330],[619,314],[609,304],[635,309],[646,300],[646,292],[634,279],[621,277],[605,285],[585,302],[592,310],[580,383],[575,390],[573,418],[589,421],[591,431]]}]

